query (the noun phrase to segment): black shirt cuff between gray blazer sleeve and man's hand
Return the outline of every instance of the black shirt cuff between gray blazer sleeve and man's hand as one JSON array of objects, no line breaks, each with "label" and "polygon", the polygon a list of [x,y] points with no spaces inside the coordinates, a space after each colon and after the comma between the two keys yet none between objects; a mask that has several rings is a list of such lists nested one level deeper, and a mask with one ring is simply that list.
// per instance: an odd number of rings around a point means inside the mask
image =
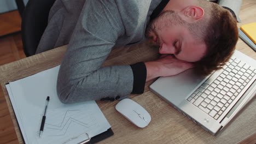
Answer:
[{"label": "black shirt cuff between gray blazer sleeve and man's hand", "polygon": [[133,72],[133,89],[132,94],[141,94],[144,92],[144,87],[147,78],[147,68],[144,62],[139,62],[130,65]]}]

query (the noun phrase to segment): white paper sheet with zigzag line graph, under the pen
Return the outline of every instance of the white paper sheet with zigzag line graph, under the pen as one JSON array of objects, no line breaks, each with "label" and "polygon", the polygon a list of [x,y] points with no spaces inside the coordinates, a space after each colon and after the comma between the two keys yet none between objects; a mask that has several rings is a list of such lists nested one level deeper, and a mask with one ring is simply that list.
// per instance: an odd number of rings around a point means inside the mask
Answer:
[{"label": "white paper sheet with zigzag line graph, under the pen", "polygon": [[[78,143],[110,128],[95,101],[62,104],[57,97],[59,66],[10,82],[7,91],[26,143]],[[39,137],[46,97],[48,109],[42,137]],[[82,135],[82,136],[80,136]]]}]

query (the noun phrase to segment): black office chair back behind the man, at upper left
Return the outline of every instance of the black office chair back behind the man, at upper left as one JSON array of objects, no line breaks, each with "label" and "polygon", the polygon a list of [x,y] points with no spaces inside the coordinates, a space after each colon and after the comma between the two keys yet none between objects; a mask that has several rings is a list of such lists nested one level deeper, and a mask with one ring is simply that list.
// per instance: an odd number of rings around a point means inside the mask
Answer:
[{"label": "black office chair back behind the man, at upper left", "polygon": [[27,57],[36,53],[54,2],[55,0],[30,0],[23,11],[21,37],[23,50]]}]

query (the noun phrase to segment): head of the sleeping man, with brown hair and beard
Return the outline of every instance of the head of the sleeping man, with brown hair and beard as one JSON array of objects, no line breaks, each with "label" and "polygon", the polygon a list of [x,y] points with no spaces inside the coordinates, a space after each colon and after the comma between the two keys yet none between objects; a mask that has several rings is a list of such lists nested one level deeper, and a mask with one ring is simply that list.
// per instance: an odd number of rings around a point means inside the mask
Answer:
[{"label": "head of the sleeping man, with brown hair and beard", "polygon": [[160,45],[159,53],[194,62],[202,74],[221,68],[238,40],[231,13],[205,0],[170,1],[146,35]]}]

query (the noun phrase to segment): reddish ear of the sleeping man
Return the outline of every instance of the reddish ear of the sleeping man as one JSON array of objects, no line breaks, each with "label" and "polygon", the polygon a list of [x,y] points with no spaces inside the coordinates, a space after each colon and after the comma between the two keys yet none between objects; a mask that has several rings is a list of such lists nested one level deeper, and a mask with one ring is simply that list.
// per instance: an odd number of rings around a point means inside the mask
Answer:
[{"label": "reddish ear of the sleeping man", "polygon": [[189,5],[182,9],[179,14],[183,20],[187,22],[194,22],[200,20],[205,14],[205,11],[201,7]]}]

